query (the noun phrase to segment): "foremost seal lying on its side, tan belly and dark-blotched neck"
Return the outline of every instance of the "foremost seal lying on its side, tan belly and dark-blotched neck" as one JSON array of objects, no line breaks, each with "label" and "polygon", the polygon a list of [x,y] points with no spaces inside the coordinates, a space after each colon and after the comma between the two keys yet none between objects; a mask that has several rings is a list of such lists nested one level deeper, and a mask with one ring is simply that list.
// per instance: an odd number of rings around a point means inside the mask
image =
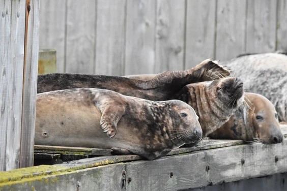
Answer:
[{"label": "foremost seal lying on its side, tan belly and dark-blotched neck", "polygon": [[179,100],[154,102],[78,88],[39,93],[36,107],[40,145],[116,147],[153,160],[202,139],[195,111]]}]

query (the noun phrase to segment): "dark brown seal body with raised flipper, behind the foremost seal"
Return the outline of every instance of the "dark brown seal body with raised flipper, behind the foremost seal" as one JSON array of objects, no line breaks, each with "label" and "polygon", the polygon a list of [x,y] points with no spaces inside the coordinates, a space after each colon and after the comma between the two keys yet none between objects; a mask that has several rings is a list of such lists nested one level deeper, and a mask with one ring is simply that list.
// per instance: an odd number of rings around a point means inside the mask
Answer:
[{"label": "dark brown seal body with raised flipper, behind the foremost seal", "polygon": [[38,76],[37,92],[93,87],[152,101],[165,101],[178,97],[178,92],[186,84],[217,79],[218,74],[227,76],[230,73],[211,59],[189,70],[163,72],[149,81],[103,75],[44,74]]}]

